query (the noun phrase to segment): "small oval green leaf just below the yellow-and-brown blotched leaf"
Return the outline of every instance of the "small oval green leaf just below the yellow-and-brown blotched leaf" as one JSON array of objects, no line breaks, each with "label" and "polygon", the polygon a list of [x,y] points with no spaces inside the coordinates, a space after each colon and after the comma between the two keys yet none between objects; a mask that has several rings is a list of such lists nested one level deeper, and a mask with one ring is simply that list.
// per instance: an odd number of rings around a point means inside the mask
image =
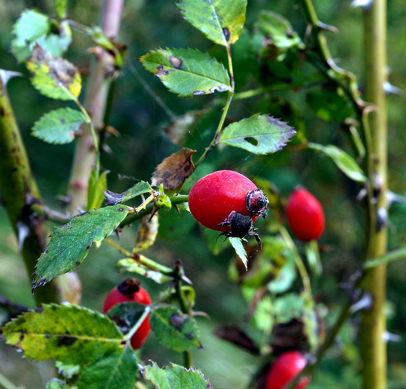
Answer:
[{"label": "small oval green leaf just below the yellow-and-brown blotched leaf", "polygon": [[32,127],[32,135],[48,143],[64,144],[75,139],[75,133],[86,117],[76,109],[59,108],[43,115]]}]

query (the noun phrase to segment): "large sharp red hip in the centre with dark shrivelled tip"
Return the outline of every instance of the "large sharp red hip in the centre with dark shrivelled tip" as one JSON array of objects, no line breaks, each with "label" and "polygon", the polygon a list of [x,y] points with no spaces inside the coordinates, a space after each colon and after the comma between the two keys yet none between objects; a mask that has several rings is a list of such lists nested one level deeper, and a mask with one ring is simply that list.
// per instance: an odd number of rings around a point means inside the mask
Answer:
[{"label": "large sharp red hip in the centre with dark shrivelled tip", "polygon": [[259,216],[266,217],[269,201],[243,174],[219,170],[196,181],[189,192],[189,208],[205,227],[226,236],[244,237]]}]

